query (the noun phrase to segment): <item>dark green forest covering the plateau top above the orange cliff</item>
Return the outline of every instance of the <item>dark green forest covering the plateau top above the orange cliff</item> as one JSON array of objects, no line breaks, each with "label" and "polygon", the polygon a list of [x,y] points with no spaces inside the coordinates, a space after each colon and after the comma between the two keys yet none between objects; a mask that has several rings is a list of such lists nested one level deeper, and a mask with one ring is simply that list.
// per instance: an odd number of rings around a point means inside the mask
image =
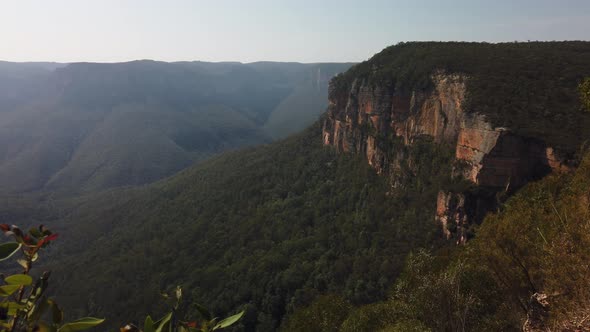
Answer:
[{"label": "dark green forest covering the plateau top above the orange cliff", "polygon": [[590,43],[409,42],[390,46],[334,80],[346,92],[354,80],[399,93],[427,90],[437,70],[462,73],[465,109],[525,137],[575,152],[590,139],[590,114],[576,87],[590,74]]}]

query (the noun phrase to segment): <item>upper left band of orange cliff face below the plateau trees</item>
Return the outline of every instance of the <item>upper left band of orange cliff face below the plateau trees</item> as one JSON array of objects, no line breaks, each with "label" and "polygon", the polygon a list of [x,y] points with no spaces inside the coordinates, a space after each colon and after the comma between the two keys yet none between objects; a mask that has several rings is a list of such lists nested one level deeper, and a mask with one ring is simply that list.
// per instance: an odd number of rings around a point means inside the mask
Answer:
[{"label": "upper left band of orange cliff face below the plateau trees", "polygon": [[371,86],[360,80],[346,93],[331,87],[324,144],[366,153],[379,170],[385,156],[375,146],[377,137],[395,135],[405,144],[421,135],[437,142],[456,141],[464,116],[465,79],[437,74],[433,80],[436,88],[430,93],[397,92],[391,86]]}]

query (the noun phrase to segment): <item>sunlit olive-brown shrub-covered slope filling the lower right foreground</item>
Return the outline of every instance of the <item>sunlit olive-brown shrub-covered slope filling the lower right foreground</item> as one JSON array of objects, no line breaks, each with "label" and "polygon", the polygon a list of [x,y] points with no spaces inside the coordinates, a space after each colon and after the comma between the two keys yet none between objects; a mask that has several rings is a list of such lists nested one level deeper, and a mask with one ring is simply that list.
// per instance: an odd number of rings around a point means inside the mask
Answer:
[{"label": "sunlit olive-brown shrub-covered slope filling the lower right foreground", "polygon": [[388,300],[337,294],[298,310],[285,331],[521,331],[531,296],[539,331],[583,331],[590,313],[590,155],[575,174],[531,183],[465,247],[415,251]]}]

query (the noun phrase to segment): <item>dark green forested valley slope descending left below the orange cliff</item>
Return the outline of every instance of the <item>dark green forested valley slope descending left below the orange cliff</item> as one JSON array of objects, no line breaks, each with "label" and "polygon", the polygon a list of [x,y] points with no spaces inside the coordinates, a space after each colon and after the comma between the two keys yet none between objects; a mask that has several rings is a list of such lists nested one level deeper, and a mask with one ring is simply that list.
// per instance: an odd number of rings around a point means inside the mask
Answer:
[{"label": "dark green forested valley slope descending left below the orange cliff", "polygon": [[264,331],[319,294],[385,299],[407,253],[440,239],[432,215],[452,151],[409,149],[417,166],[407,168],[408,190],[393,194],[319,134],[316,124],[114,200],[85,200],[54,249],[66,312],[121,322],[156,310],[160,291],[178,284],[214,312],[245,309],[243,327]]}]

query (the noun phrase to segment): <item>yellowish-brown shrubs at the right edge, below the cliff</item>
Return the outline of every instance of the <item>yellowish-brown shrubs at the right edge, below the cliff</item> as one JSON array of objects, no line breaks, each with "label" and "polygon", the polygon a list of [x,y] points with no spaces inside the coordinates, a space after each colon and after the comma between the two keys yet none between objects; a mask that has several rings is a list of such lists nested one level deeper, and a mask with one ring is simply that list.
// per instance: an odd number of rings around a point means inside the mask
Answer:
[{"label": "yellowish-brown shrubs at the right edge, below the cliff", "polygon": [[590,155],[575,174],[528,185],[486,219],[470,245],[469,257],[487,268],[514,311],[523,314],[535,292],[549,296],[552,330],[576,326],[590,311],[588,188]]}]

